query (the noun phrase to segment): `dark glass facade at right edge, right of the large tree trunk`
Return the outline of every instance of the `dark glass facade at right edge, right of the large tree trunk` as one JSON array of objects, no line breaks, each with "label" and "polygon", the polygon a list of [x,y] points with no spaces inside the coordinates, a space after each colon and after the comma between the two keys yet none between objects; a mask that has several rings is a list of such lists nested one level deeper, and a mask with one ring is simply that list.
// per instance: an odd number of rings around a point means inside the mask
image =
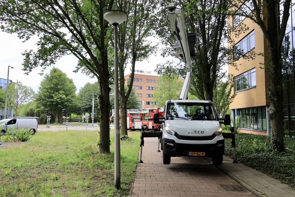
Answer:
[{"label": "dark glass facade at right edge, right of the large tree trunk", "polygon": [[[282,44],[282,89],[284,136],[295,137],[295,86],[294,86],[294,53],[295,53],[295,1],[290,8],[290,16]],[[278,21],[282,19],[283,8],[277,10]],[[294,19],[294,21],[293,21]]]}]

